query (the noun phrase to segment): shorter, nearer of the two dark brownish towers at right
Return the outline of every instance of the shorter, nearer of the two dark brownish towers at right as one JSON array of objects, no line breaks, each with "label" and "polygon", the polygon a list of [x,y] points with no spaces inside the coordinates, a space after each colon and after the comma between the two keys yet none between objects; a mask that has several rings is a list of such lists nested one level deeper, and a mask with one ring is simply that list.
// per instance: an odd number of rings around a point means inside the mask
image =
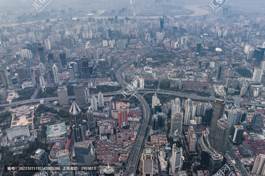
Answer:
[{"label": "shorter, nearer of the two dark brownish towers at right", "polygon": [[223,153],[226,151],[226,145],[229,140],[231,125],[224,119],[217,121],[215,138],[213,140],[213,148],[218,152]]}]

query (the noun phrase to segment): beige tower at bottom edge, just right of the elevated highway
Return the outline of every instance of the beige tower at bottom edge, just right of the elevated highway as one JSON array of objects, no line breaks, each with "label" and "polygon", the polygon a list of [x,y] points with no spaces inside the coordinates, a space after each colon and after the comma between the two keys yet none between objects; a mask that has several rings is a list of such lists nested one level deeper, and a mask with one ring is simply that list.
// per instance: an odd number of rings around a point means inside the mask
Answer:
[{"label": "beige tower at bottom edge, just right of the elevated highway", "polygon": [[150,148],[146,148],[143,151],[143,176],[153,175],[153,162],[153,150]]}]

